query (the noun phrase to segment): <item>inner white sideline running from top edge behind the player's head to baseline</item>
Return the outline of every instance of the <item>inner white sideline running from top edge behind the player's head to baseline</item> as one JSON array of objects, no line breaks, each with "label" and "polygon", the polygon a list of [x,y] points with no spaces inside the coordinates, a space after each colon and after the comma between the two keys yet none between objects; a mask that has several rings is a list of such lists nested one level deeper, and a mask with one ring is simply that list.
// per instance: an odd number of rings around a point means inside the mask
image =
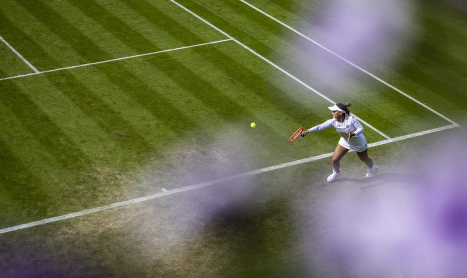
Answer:
[{"label": "inner white sideline running from top edge behind the player's head to baseline", "polygon": [[[171,2],[173,2],[174,4],[176,4],[177,6],[179,6],[180,8],[184,9],[185,11],[187,11],[188,13],[190,13],[191,15],[193,15],[194,17],[196,17],[197,19],[203,21],[204,23],[206,23],[207,25],[211,26],[212,28],[216,29],[218,32],[222,33],[224,36],[226,37],[229,37],[230,39],[232,39],[234,42],[238,43],[239,45],[243,46],[245,49],[247,49],[248,51],[250,51],[252,54],[260,57],[261,59],[263,59],[264,61],[266,61],[268,64],[270,64],[271,66],[273,66],[274,68],[278,69],[279,71],[283,72],[284,74],[287,74],[287,76],[289,76],[290,78],[294,79],[295,81],[297,81],[298,83],[302,84],[303,86],[305,86],[308,90],[318,94],[319,96],[323,97],[325,100],[329,101],[330,103],[332,104],[335,104],[336,102],[331,100],[330,98],[328,98],[327,96],[323,95],[322,93],[318,92],[317,90],[315,90],[314,88],[310,87],[309,85],[307,85],[305,82],[303,82],[302,80],[298,79],[297,77],[295,77],[294,75],[290,74],[289,72],[287,72],[286,70],[282,69],[281,67],[279,67],[278,65],[274,64],[273,62],[271,62],[269,59],[265,58],[264,56],[261,56],[259,53],[255,52],[254,50],[252,50],[250,47],[246,46],[244,43],[240,42],[239,40],[235,39],[234,37],[230,36],[229,34],[227,34],[226,32],[220,30],[219,28],[217,28],[215,25],[211,24],[211,22],[207,21],[206,19],[203,19],[201,18],[200,16],[198,16],[197,14],[195,14],[194,12],[192,12],[191,10],[189,10],[188,8],[186,8],[185,6],[181,5],[180,3],[178,3],[177,1],[175,0],[170,0]],[[371,128],[372,130],[375,130],[379,135],[383,136],[384,138],[386,139],[391,139],[388,135],[384,134],[383,132],[377,130],[375,127],[373,127],[372,125],[370,125],[369,123],[365,122],[364,120],[362,120],[361,118],[357,117],[357,115],[353,114],[357,119],[359,119],[360,122],[364,123],[366,126],[368,126],[369,128]]]}]

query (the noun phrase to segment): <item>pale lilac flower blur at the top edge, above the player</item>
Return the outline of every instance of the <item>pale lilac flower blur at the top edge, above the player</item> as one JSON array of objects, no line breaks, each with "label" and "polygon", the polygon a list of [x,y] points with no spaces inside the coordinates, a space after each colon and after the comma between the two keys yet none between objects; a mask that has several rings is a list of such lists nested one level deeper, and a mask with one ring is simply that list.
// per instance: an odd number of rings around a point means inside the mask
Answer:
[{"label": "pale lilac flower blur at the top edge, above the player", "polygon": [[[410,44],[408,31],[415,29],[413,1],[329,0],[314,12],[312,20],[317,28],[310,30],[310,36],[370,71],[375,61],[391,63],[398,50]],[[330,75],[332,80],[359,73],[340,60],[325,58],[323,50],[309,42],[302,48],[310,68],[320,69],[320,74]]]}]

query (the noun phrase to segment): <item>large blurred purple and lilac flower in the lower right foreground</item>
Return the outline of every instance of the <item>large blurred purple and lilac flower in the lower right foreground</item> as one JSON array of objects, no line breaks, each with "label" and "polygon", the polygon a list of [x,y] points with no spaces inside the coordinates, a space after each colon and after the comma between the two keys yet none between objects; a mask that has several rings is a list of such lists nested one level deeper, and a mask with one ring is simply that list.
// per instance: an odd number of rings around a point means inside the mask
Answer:
[{"label": "large blurred purple and lilac flower in the lower right foreground", "polygon": [[446,143],[413,175],[381,173],[329,196],[320,227],[304,232],[321,234],[308,250],[313,267],[342,277],[467,277],[467,151],[462,140]]}]

